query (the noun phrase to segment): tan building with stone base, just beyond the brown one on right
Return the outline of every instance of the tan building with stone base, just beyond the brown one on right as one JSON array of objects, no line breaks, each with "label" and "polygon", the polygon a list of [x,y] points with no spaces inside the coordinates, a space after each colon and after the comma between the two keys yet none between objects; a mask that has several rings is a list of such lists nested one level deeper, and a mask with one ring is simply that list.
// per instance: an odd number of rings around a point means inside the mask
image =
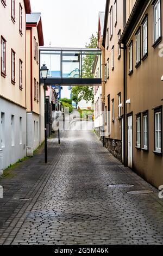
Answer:
[{"label": "tan building with stone base, just beyond the brown one on right", "polygon": [[103,47],[105,48],[104,103],[105,144],[119,160],[123,160],[123,51],[118,45],[125,25],[126,2],[106,1]]}]

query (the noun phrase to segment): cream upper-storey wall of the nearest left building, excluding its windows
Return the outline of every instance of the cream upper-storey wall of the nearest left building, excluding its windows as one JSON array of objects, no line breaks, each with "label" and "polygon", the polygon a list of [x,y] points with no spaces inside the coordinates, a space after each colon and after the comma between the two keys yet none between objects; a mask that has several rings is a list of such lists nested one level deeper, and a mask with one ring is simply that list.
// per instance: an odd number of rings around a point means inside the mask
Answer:
[{"label": "cream upper-storey wall of the nearest left building, excluding its windows", "polygon": [[[19,3],[23,8],[23,34],[19,32]],[[0,2],[0,36],[6,42],[6,77],[0,74],[0,95],[26,108],[26,11],[24,1],[15,1],[15,23],[11,20],[11,1]],[[7,22],[5,22],[7,21]],[[21,46],[21,47],[20,47]],[[11,83],[11,48],[15,51],[15,85]],[[0,51],[1,57],[1,51]],[[19,59],[23,62],[23,89],[19,87]]]}]

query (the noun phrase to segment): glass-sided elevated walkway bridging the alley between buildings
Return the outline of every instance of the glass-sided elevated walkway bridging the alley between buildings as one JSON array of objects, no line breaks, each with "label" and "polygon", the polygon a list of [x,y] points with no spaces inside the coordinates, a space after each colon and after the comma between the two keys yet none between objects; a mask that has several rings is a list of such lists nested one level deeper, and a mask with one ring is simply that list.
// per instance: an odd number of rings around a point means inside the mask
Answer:
[{"label": "glass-sided elevated walkway bridging the alley between buildings", "polygon": [[[99,72],[94,78],[92,70],[97,61]],[[40,68],[42,64],[49,69],[46,84],[101,86],[101,50],[98,48],[40,47]],[[40,83],[43,83],[41,77]]]}]

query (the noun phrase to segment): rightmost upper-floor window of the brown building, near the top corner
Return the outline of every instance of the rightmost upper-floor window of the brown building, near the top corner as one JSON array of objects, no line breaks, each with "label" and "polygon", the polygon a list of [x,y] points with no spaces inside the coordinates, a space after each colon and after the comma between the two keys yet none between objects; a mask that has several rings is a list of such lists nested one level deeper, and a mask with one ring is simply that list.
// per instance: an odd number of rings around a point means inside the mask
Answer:
[{"label": "rightmost upper-floor window of the brown building, near the top corner", "polygon": [[154,5],[154,42],[161,36],[161,4],[160,0]]}]

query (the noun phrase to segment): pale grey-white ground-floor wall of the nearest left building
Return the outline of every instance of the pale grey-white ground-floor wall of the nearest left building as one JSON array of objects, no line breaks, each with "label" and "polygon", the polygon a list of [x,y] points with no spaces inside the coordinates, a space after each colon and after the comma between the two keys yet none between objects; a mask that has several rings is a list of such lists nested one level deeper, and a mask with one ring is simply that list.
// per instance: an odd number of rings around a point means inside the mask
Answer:
[{"label": "pale grey-white ground-floor wall of the nearest left building", "polygon": [[[0,98],[0,120],[1,113],[4,113],[4,136],[2,133],[2,123],[0,121],[0,148],[3,149],[3,169],[10,164],[17,162],[26,156],[26,109],[12,102]],[[11,126],[11,115],[14,115],[14,126]],[[22,118],[22,129],[20,141],[20,117]],[[12,130],[14,127],[14,130]],[[14,144],[12,145],[12,135]],[[2,138],[3,136],[3,138]],[[2,145],[3,140],[3,145]]]}]

